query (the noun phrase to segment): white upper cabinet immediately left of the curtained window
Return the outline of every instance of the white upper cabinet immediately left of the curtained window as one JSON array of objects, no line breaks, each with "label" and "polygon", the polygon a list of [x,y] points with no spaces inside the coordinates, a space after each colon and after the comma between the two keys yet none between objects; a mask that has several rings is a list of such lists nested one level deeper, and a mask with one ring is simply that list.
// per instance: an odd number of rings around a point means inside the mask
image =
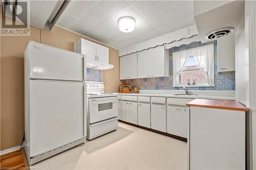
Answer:
[{"label": "white upper cabinet immediately left of the curtained window", "polygon": [[168,76],[169,53],[164,45],[138,52],[138,78]]}]

